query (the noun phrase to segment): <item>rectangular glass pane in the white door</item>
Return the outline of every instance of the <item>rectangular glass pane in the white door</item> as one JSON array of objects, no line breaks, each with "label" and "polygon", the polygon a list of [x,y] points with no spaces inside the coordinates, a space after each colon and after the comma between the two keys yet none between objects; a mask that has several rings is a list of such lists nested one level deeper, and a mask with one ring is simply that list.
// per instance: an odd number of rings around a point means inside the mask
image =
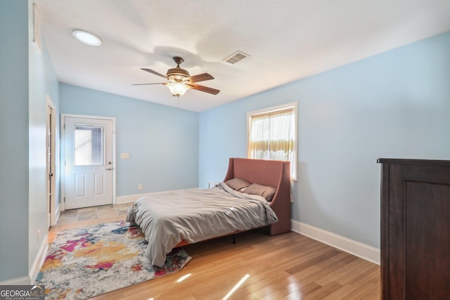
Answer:
[{"label": "rectangular glass pane in the white door", "polygon": [[75,125],[75,166],[104,164],[104,126]]}]

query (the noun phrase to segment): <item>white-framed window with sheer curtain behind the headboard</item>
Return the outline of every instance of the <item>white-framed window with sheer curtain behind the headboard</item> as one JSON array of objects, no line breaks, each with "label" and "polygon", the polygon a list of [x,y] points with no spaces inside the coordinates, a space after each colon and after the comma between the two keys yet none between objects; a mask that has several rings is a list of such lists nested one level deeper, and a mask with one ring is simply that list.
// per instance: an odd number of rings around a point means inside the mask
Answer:
[{"label": "white-framed window with sheer curtain behind the headboard", "polygon": [[297,180],[297,103],[247,114],[247,157],[290,162]]}]

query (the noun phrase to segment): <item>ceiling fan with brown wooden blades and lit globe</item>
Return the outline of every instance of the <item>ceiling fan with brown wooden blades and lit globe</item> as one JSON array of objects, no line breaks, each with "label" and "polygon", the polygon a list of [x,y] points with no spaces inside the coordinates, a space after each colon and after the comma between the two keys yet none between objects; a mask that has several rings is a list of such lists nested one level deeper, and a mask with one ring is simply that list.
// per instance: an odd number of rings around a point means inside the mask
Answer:
[{"label": "ceiling fan with brown wooden blades and lit globe", "polygon": [[[185,70],[180,67],[180,64],[184,62],[183,58],[179,56],[174,56],[172,59],[176,63],[176,67],[172,67],[169,70],[167,70],[166,75],[160,74],[150,69],[146,69],[145,67],[141,67],[141,70],[150,72],[152,74],[158,75],[159,77],[164,77],[167,80],[169,80],[169,82],[158,82],[155,84],[164,84],[172,92],[173,96],[177,97],[182,96],[184,95],[184,93],[186,93],[188,89],[204,91],[205,93],[212,93],[213,95],[217,95],[217,93],[219,93],[219,90],[217,89],[212,89],[207,86],[200,86],[199,84],[195,84],[195,82],[198,81],[214,79],[214,77],[212,77],[210,74],[203,73],[191,76],[188,70]],[[133,85],[142,86],[148,84],[133,84]]]}]

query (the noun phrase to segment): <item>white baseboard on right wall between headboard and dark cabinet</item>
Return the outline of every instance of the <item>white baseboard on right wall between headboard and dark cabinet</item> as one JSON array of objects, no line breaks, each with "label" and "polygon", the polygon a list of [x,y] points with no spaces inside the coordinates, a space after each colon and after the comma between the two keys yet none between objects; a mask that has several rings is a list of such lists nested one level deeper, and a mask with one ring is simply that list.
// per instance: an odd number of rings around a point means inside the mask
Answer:
[{"label": "white baseboard on right wall between headboard and dark cabinet", "polygon": [[347,237],[294,220],[291,220],[291,230],[380,265],[380,249],[371,247],[368,244],[356,242]]}]

